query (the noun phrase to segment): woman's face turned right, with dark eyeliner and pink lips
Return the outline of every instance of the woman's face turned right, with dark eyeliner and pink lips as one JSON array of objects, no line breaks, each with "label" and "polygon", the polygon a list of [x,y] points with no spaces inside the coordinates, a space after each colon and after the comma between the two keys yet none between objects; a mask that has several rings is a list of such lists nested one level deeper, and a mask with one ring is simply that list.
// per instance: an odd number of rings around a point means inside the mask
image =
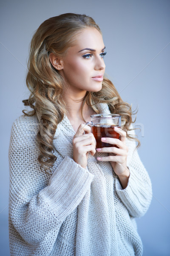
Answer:
[{"label": "woman's face turned right, with dark eyeliner and pink lips", "polygon": [[62,69],[59,73],[73,93],[99,91],[102,89],[105,73],[105,45],[102,35],[95,28],[87,28],[75,39],[74,46],[68,48],[66,55],[61,59]]}]

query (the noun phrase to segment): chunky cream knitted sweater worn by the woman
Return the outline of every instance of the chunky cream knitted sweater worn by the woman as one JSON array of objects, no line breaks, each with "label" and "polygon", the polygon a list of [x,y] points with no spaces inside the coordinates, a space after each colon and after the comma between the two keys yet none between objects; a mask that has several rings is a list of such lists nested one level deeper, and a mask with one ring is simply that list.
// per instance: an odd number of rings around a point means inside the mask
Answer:
[{"label": "chunky cream knitted sweater worn by the woman", "polygon": [[[102,113],[110,113],[99,104]],[[11,256],[141,256],[135,217],[151,197],[150,178],[127,140],[128,185],[122,189],[109,162],[89,154],[87,168],[73,160],[75,134],[67,116],[57,126],[52,175],[40,170],[36,116],[20,116],[9,147]],[[132,134],[133,132],[130,131]]]}]

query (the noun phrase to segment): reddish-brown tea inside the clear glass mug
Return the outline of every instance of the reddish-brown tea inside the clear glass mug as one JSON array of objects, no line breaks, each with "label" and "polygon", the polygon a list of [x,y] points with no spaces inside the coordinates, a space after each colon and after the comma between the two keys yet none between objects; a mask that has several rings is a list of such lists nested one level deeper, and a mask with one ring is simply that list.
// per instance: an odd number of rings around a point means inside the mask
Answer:
[{"label": "reddish-brown tea inside the clear glass mug", "polygon": [[[114,127],[116,125],[95,125],[92,126],[92,133],[94,134],[94,137],[96,139],[96,148],[105,148],[105,147],[113,147],[116,145],[112,145],[109,143],[105,143],[101,141],[102,137],[110,137],[110,138],[116,138],[119,139],[119,134],[114,130]],[[120,126],[116,126],[120,128]]]}]

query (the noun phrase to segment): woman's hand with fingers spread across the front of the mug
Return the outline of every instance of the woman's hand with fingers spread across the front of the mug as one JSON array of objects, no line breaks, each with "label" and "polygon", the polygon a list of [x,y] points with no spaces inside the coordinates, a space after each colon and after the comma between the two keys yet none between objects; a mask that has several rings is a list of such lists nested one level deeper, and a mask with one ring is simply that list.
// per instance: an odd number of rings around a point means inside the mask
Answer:
[{"label": "woman's hand with fingers spread across the front of the mug", "polygon": [[127,186],[129,179],[129,169],[127,168],[127,153],[128,147],[126,146],[126,132],[118,127],[114,127],[115,131],[120,134],[120,140],[114,138],[102,138],[102,142],[116,145],[108,148],[97,148],[98,152],[109,153],[108,157],[97,157],[99,161],[110,161],[114,172],[118,175],[119,180],[124,189]]}]

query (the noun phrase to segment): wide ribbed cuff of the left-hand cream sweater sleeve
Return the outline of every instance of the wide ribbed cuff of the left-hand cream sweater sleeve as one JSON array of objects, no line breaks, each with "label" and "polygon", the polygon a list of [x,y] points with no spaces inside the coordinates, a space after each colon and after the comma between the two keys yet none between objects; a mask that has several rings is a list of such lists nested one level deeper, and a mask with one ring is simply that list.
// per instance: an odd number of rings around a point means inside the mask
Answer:
[{"label": "wide ribbed cuff of the left-hand cream sweater sleeve", "polygon": [[57,218],[65,219],[82,201],[94,178],[72,158],[65,157],[40,197]]}]

